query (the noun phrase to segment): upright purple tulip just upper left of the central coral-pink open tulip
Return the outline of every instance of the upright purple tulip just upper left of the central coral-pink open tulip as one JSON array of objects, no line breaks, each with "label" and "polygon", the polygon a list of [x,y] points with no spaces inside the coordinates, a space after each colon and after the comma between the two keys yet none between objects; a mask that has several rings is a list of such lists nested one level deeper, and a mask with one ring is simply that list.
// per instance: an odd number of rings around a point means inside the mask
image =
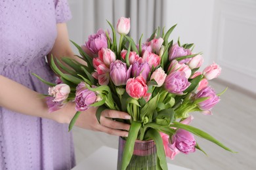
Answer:
[{"label": "upright purple tulip just upper left of the central coral-pink open tulip", "polygon": [[125,85],[131,75],[131,66],[127,69],[126,63],[116,60],[110,64],[110,78],[116,86]]}]

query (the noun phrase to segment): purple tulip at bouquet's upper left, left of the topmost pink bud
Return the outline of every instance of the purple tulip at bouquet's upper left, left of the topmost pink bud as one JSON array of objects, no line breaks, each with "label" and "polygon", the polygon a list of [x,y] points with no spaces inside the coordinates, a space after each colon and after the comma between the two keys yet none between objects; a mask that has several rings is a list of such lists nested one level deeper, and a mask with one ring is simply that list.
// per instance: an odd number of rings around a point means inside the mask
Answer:
[{"label": "purple tulip at bouquet's upper left, left of the topmost pink bud", "polygon": [[106,33],[102,29],[98,29],[96,34],[90,35],[88,41],[82,46],[83,49],[88,49],[93,54],[98,54],[101,48],[108,48],[108,39]]}]

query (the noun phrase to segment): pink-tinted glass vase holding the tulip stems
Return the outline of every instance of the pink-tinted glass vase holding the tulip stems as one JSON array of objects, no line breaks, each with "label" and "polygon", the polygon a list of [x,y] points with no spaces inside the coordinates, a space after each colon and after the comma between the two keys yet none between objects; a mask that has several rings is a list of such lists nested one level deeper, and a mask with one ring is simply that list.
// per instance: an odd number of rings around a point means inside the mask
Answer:
[{"label": "pink-tinted glass vase holding the tulip stems", "polygon": [[[123,148],[125,147],[125,139],[119,137],[117,170],[121,169],[121,162],[123,157]],[[153,140],[150,141],[135,141],[133,156],[127,166],[127,169],[142,170],[156,169],[156,144]]]}]

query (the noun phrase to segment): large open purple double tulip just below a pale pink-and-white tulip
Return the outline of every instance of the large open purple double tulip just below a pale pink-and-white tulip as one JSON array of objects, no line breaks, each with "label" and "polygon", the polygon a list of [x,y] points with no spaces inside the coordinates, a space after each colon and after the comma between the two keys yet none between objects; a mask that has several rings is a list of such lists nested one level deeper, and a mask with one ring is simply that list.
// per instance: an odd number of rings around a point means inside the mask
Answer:
[{"label": "large open purple double tulip just below a pale pink-and-white tulip", "polygon": [[165,89],[177,95],[182,95],[190,84],[184,71],[175,71],[165,78]]}]

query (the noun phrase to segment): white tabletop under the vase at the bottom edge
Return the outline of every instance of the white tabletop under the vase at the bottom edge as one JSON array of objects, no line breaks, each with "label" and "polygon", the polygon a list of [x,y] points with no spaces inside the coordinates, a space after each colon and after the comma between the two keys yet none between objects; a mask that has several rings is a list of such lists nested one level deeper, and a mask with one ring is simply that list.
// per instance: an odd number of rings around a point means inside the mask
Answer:
[{"label": "white tabletop under the vase at the bottom edge", "polygon": [[[171,170],[191,170],[167,163]],[[115,170],[117,168],[117,149],[108,146],[98,148],[72,170]]]}]

